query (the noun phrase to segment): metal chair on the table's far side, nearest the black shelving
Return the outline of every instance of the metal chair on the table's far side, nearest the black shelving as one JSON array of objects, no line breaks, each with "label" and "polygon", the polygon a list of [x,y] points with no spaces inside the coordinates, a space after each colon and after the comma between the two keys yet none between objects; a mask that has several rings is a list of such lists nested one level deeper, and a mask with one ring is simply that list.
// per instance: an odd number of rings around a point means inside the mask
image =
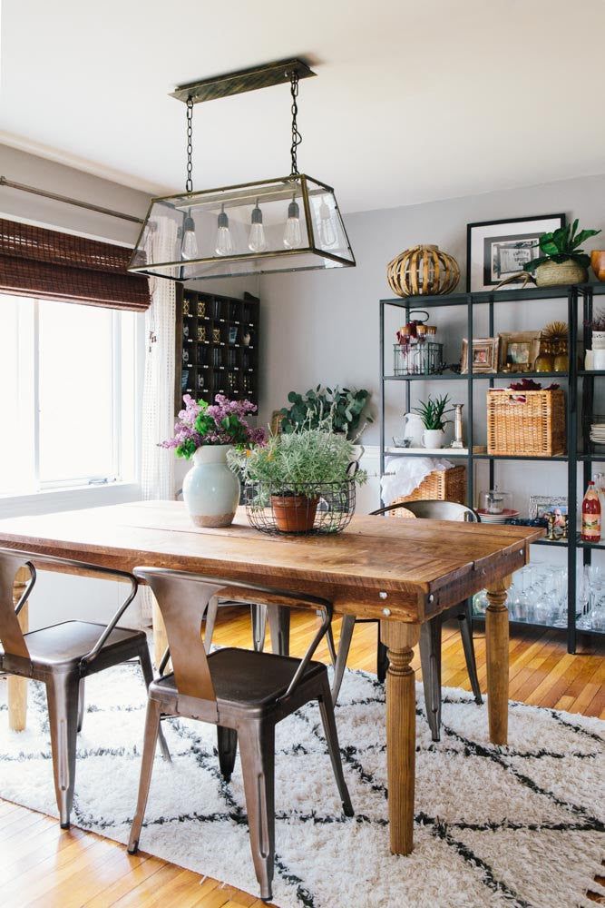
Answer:
[{"label": "metal chair on the table's far side, nearest the black shelving", "polygon": [[[397,511],[409,511],[416,518],[425,518],[429,520],[463,520],[472,523],[480,522],[479,515],[472,508],[458,504],[456,501],[402,501],[378,508],[372,511],[372,515],[397,516]],[[403,516],[403,515],[402,515]],[[440,738],[441,728],[441,629],[444,620],[447,618],[457,618],[460,634],[464,647],[464,658],[468,671],[473,695],[477,704],[483,703],[479,678],[477,676],[477,663],[474,656],[473,646],[473,612],[469,600],[461,602],[458,606],[447,608],[439,615],[435,615],[430,621],[426,621],[420,629],[420,664],[422,667],[423,687],[424,687],[424,706],[426,709],[426,718],[431,729],[431,735],[434,741]],[[356,618],[353,615],[344,615],[340,630],[340,640],[337,649],[337,661],[334,668],[334,683],[332,685],[332,699],[336,704],[342,679],[345,674],[346,659],[351,646],[351,637],[353,637],[353,628],[356,621],[368,622],[373,621],[378,625],[378,653],[376,656],[377,671],[376,674],[380,681],[385,680],[386,669],[388,667],[388,656],[386,655],[386,646],[380,639],[380,622],[376,618]]]}]

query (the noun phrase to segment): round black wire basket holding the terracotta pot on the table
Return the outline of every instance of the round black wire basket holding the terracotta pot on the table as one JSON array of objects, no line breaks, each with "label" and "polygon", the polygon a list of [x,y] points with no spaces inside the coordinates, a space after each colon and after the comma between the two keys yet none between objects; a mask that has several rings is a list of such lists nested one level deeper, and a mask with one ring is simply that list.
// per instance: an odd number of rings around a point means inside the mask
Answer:
[{"label": "round black wire basket holding the terracotta pot on the table", "polygon": [[296,494],[259,483],[244,487],[246,514],[261,533],[340,533],[355,513],[355,482],[298,483]]}]

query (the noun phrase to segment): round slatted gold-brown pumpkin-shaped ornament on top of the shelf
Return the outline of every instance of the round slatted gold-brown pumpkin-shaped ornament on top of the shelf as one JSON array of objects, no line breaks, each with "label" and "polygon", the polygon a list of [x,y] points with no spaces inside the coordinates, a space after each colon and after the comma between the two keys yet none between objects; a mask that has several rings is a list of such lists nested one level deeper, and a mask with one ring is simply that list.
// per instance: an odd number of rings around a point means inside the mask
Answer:
[{"label": "round slatted gold-brown pumpkin-shaped ornament on top of the shelf", "polygon": [[436,296],[455,289],[460,269],[438,246],[413,246],[388,263],[386,280],[397,296]]}]

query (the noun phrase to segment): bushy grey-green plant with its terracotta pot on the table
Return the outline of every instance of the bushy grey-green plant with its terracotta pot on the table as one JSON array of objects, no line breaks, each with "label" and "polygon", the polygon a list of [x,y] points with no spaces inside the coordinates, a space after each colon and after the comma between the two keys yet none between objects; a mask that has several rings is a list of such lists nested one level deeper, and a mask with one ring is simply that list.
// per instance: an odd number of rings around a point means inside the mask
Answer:
[{"label": "bushy grey-green plant with its terracotta pot on the table", "polygon": [[357,485],[366,481],[364,470],[349,474],[354,447],[324,420],[315,429],[303,424],[294,431],[270,435],[262,448],[231,451],[229,462],[252,490],[248,498],[254,505],[252,513],[264,510],[263,518],[273,520],[282,533],[305,533],[314,528],[320,498],[329,498],[351,481]]}]

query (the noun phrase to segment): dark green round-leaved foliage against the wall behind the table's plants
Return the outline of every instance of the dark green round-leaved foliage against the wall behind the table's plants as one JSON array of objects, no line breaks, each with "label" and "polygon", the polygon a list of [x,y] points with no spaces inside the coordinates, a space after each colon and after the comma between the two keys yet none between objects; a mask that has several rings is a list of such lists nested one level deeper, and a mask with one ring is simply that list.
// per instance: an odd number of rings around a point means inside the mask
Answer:
[{"label": "dark green round-leaved foliage against the wall behind the table's plants", "polygon": [[[308,390],[305,395],[290,391],[288,401],[291,407],[279,410],[282,417],[281,430],[287,435],[302,426],[317,429],[322,424],[329,431],[344,432],[348,439],[356,439],[366,428],[359,429],[364,410],[370,398],[365,389],[322,388]],[[366,422],[373,422],[366,414]]]}]

